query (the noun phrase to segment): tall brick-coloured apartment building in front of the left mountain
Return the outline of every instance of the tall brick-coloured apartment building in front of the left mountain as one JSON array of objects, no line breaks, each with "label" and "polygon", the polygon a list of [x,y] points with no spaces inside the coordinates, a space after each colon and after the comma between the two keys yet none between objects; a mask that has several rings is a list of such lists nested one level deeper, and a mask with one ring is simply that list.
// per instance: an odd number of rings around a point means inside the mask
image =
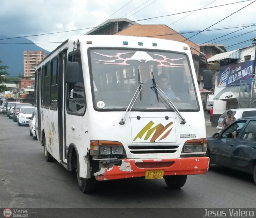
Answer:
[{"label": "tall brick-coloured apartment building in front of the left mountain", "polygon": [[24,76],[35,77],[35,68],[46,57],[43,51],[24,51]]}]

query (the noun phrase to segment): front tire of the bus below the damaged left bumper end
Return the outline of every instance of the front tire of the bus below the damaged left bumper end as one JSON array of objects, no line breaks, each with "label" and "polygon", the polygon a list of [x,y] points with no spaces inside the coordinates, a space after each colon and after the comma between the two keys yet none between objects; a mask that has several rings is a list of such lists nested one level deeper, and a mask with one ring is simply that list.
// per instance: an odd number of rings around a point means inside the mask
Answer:
[{"label": "front tire of the bus below the damaged left bumper end", "polygon": [[79,163],[76,164],[76,178],[78,187],[83,193],[92,193],[96,190],[96,179],[91,177],[89,179],[79,177]]}]

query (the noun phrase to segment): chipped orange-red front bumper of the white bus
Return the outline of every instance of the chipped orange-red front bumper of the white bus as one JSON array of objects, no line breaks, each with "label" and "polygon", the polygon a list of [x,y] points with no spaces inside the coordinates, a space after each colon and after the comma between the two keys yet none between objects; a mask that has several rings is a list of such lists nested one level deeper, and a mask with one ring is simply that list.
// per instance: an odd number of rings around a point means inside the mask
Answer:
[{"label": "chipped orange-red front bumper of the white bus", "polygon": [[146,170],[164,170],[164,176],[204,174],[209,168],[208,157],[171,159],[122,159],[120,166],[101,168],[96,180],[145,177]]}]

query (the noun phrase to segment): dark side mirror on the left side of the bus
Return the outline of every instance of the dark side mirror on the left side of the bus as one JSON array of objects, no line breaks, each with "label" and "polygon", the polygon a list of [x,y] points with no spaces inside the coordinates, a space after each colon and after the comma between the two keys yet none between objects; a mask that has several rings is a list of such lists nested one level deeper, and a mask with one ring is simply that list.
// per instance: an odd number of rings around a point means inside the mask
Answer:
[{"label": "dark side mirror on the left side of the bus", "polygon": [[78,62],[67,62],[65,72],[66,83],[76,84],[78,82],[79,67]]}]

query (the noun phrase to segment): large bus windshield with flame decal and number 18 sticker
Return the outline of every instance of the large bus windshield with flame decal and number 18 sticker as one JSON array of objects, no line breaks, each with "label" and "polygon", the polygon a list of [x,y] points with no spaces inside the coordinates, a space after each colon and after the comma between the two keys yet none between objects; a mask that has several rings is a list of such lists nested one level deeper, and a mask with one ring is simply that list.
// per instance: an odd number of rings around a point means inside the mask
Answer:
[{"label": "large bus windshield with flame decal and number 18 sticker", "polygon": [[[138,86],[132,110],[198,110],[190,64],[185,54],[163,51],[91,49],[94,108],[126,110]],[[152,78],[154,77],[154,80]],[[159,93],[153,83],[164,92]]]}]

